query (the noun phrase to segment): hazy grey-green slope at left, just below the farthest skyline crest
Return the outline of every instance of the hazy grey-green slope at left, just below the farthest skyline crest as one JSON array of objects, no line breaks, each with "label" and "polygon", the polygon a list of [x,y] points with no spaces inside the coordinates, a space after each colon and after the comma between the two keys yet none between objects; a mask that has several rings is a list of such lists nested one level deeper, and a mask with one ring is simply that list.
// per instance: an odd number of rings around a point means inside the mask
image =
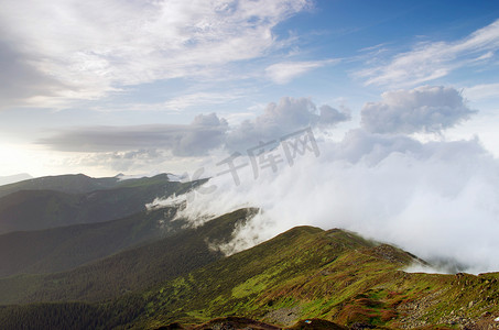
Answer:
[{"label": "hazy grey-green slope at left, just below the farthest skyline crest", "polygon": [[76,195],[55,190],[15,191],[0,198],[0,233],[124,218],[144,211],[144,205],[156,197],[184,194],[199,183],[169,182],[166,175],[158,175]]}]

